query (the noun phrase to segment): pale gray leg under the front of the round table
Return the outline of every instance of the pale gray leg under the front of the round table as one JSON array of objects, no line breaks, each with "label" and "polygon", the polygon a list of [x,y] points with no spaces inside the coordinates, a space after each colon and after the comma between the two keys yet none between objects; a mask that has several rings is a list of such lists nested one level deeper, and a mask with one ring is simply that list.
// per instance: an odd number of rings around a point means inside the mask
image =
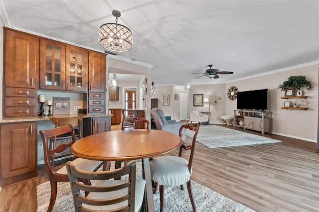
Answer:
[{"label": "pale gray leg under the front of the round table", "polygon": [[144,179],[146,180],[146,202],[147,202],[147,211],[154,212],[154,199],[153,199],[153,187],[152,187],[152,178],[151,178],[151,169],[150,169],[150,159],[142,159],[142,166],[144,171]]}]

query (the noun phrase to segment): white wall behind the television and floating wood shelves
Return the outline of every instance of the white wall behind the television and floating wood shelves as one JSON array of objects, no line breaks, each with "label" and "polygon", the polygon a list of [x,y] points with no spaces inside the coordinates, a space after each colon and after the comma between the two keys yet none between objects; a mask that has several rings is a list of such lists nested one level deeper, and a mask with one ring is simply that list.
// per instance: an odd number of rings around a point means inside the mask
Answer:
[{"label": "white wall behind the television and floating wood shelves", "polygon": [[[307,65],[307,64],[306,64]],[[318,130],[318,63],[306,67],[288,68],[287,71],[274,72],[270,75],[255,77],[246,80],[239,80],[226,84],[225,93],[231,86],[236,86],[239,91],[268,89],[268,107],[272,112],[272,123],[274,134],[300,138],[303,140],[317,142]],[[309,96],[308,110],[287,110],[281,109],[284,102],[294,102],[297,99],[281,99],[285,92],[278,89],[278,86],[287,80],[290,76],[306,76],[312,84],[311,90],[302,89],[305,96]],[[253,101],[253,100],[252,100]],[[226,113],[233,114],[237,109],[237,100],[226,101]]]}]

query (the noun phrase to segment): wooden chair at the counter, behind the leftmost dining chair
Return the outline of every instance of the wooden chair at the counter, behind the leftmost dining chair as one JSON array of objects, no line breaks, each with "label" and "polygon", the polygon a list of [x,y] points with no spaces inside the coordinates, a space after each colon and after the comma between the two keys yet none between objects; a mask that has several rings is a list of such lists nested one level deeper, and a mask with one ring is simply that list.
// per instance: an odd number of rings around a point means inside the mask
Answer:
[{"label": "wooden chair at the counter, behind the leftmost dining chair", "polygon": [[[83,118],[80,117],[51,117],[50,121],[55,125],[55,127],[61,127],[71,124],[74,128],[75,138],[81,139],[82,138],[82,132],[81,132],[81,123]],[[55,148],[56,143],[60,142],[68,142],[72,139],[71,132],[65,133],[63,135],[58,135],[50,139],[50,145],[49,148]],[[54,164],[55,159],[66,157],[72,155],[69,149],[66,149],[64,152],[61,152],[59,154],[52,155],[53,160],[52,163]]]}]

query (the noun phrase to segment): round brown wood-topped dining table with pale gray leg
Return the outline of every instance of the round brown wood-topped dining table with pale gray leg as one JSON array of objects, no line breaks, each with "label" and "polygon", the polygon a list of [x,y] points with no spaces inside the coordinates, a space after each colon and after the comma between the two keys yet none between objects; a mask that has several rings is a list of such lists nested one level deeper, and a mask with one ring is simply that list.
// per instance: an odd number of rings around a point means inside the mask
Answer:
[{"label": "round brown wood-topped dining table with pale gray leg", "polygon": [[154,212],[150,158],[173,151],[182,144],[180,136],[157,129],[125,129],[97,133],[72,144],[70,151],[77,157],[101,161],[142,159],[146,180],[146,205]]}]

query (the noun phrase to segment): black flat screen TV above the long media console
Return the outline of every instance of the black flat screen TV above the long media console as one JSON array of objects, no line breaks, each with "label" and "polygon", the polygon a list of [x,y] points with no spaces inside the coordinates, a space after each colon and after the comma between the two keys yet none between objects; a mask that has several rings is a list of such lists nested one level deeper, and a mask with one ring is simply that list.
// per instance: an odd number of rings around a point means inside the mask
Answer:
[{"label": "black flat screen TV above the long media console", "polygon": [[237,109],[268,110],[268,89],[238,92]]}]

